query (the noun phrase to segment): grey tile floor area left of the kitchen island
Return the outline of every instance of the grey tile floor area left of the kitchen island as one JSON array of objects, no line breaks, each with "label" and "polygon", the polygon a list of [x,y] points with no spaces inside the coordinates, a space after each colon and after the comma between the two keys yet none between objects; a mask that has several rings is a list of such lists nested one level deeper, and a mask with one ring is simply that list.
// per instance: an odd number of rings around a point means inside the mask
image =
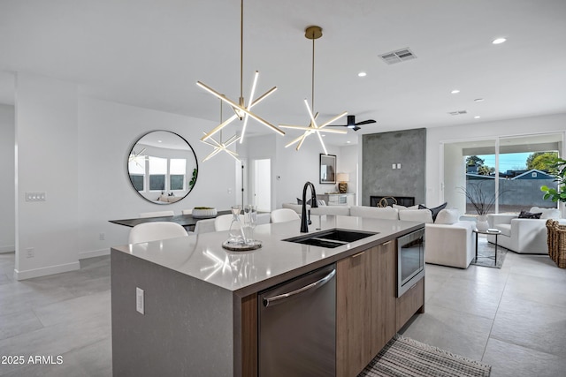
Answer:
[{"label": "grey tile floor area left of the kitchen island", "polygon": [[[80,260],[80,270],[13,281],[14,254],[0,253],[0,357],[4,376],[111,376],[110,257]],[[61,365],[28,364],[63,357]]]}]

